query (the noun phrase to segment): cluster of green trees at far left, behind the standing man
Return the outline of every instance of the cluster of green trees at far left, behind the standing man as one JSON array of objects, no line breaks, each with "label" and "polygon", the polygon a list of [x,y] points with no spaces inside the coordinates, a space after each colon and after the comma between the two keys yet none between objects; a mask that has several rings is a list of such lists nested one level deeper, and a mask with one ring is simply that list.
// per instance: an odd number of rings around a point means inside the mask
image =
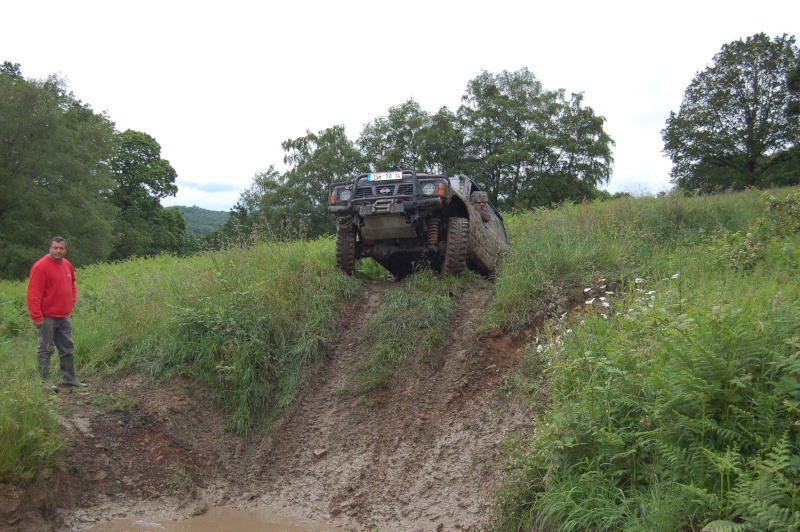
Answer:
[{"label": "cluster of green trees at far left, behind the standing man", "polygon": [[76,266],[199,249],[179,212],[175,170],[146,133],[119,133],[58,76],[0,67],[0,277],[23,278],[60,235]]}]

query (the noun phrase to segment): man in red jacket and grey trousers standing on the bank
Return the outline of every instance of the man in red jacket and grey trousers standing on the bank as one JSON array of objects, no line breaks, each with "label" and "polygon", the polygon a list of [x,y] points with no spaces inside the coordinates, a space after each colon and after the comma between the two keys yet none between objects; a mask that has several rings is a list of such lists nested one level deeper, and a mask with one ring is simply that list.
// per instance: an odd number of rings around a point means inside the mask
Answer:
[{"label": "man in red jacket and grey trousers standing on the bank", "polygon": [[28,314],[39,328],[39,348],[36,351],[37,369],[42,386],[55,393],[58,387],[50,380],[50,358],[53,346],[58,349],[63,386],[86,386],[75,378],[72,322],[69,316],[78,299],[75,270],[64,258],[67,242],[60,236],[50,239],[50,251],[31,268],[28,280]]}]

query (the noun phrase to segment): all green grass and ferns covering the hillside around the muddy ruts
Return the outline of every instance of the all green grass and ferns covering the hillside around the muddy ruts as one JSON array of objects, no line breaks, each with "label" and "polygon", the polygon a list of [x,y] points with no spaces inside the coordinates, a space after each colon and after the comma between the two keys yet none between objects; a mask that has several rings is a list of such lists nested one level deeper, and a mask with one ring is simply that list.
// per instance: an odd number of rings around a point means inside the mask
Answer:
[{"label": "all green grass and ferns covering the hillside around the muddy ruts", "polygon": [[[539,326],[503,392],[549,408],[506,442],[494,530],[800,528],[800,200],[775,195],[505,217],[512,252],[480,327]],[[302,388],[340,302],[383,275],[369,261],[336,273],[331,239],[85,268],[79,371],[186,375],[254,434]],[[421,273],[387,289],[337,393],[369,405],[430,356],[472,282]],[[63,445],[34,351],[24,285],[0,283],[3,481],[57,466]]]}]

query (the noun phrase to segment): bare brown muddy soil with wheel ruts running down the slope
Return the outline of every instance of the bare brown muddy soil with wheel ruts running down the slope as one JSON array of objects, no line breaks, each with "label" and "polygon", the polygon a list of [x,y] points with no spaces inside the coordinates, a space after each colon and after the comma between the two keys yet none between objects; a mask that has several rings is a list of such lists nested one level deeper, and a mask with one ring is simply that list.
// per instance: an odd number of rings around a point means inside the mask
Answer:
[{"label": "bare brown muddy soil with wheel ruts running down the slope", "polygon": [[64,471],[0,485],[0,528],[81,530],[118,518],[181,520],[217,506],[346,530],[478,530],[502,479],[502,444],[532,412],[501,393],[524,338],[474,332],[491,286],[454,300],[447,346],[380,392],[347,392],[359,328],[388,282],[342,304],[339,336],[267,436],[226,429],[210,393],[175,379],[66,389],[55,399]]}]

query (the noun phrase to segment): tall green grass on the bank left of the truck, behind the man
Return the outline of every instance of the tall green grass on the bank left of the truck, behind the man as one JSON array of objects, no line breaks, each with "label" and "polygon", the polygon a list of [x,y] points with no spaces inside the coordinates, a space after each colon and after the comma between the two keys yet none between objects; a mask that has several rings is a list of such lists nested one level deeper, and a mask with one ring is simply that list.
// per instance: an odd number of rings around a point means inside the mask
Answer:
[{"label": "tall green grass on the bank left of the truck, behind the man", "polygon": [[[188,375],[214,390],[232,427],[248,435],[292,402],[339,301],[355,290],[357,281],[333,271],[332,253],[330,240],[297,241],[82,269],[72,316],[78,369],[84,377]],[[10,303],[0,323],[15,331],[24,286],[2,288]],[[0,344],[4,355],[26,353],[11,366],[29,367],[28,380],[34,344],[10,332]]]}]

